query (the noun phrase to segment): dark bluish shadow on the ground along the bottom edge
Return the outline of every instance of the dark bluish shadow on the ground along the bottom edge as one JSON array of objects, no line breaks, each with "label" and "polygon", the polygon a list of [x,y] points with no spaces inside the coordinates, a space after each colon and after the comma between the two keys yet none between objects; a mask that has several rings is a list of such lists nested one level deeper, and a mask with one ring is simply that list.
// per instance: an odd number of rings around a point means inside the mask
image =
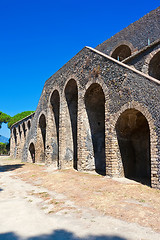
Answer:
[{"label": "dark bluish shadow on the ground along the bottom edge", "polygon": [[35,237],[29,237],[29,238],[22,238],[17,236],[13,232],[8,232],[8,233],[3,233],[0,234],[0,240],[126,240],[125,238],[121,238],[118,236],[113,236],[113,235],[99,235],[99,236],[93,236],[89,235],[84,238],[79,238],[74,233],[68,232],[66,230],[56,230],[53,231],[53,233],[47,235],[39,235]]}]

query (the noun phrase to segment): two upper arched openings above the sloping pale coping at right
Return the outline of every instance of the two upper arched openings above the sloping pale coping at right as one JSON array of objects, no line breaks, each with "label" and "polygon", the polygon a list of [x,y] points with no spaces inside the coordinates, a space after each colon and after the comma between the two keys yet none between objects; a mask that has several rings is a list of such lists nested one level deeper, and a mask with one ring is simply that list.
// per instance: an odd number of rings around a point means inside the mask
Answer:
[{"label": "two upper arched openings above the sloping pale coping at right", "polygon": [[[133,47],[127,44],[121,44],[112,51],[111,57],[119,61],[123,61],[131,56],[132,48]],[[147,74],[160,80],[160,50],[156,51],[156,53],[151,57],[148,63]]]}]

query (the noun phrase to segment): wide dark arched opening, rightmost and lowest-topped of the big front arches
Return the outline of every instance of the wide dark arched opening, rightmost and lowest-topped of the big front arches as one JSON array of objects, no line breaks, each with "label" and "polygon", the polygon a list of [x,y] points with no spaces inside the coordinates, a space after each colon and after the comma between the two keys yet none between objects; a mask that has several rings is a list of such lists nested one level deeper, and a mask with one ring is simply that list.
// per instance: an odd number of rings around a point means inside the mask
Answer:
[{"label": "wide dark arched opening, rightmost and lowest-topped of the big front arches", "polygon": [[119,117],[116,132],[125,177],[150,185],[150,131],[146,118],[128,109]]}]

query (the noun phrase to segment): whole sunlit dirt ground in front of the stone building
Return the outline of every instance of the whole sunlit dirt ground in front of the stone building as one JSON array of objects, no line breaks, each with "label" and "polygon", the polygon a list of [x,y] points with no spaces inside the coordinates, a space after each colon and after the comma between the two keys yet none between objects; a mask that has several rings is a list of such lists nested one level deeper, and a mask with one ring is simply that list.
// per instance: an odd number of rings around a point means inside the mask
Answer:
[{"label": "whole sunlit dirt ground in front of the stone building", "polygon": [[[40,223],[37,218],[30,222],[30,236],[28,231],[24,234],[19,228],[15,231],[8,227],[7,218],[0,225],[0,239],[160,239],[160,190],[125,178],[54,170],[4,157],[0,157],[0,174],[0,222],[7,211],[9,215],[16,211],[9,208],[17,197],[21,204],[25,202],[23,215],[27,216],[27,209],[33,208],[42,219]],[[8,208],[4,206],[7,201]],[[30,215],[28,218],[32,219]],[[19,221],[23,225],[22,216]],[[61,224],[57,225],[57,221]],[[44,235],[48,228],[53,233]]]}]

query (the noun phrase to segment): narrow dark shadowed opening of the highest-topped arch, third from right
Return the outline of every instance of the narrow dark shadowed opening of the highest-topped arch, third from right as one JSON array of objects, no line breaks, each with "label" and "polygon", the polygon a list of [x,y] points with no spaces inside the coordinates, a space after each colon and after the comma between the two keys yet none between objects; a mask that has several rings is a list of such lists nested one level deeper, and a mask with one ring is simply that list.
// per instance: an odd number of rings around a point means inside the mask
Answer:
[{"label": "narrow dark shadowed opening of the highest-topped arch, third from right", "polygon": [[72,137],[73,137],[73,167],[77,169],[77,111],[78,111],[78,89],[76,81],[71,79],[65,88],[65,97],[68,105]]}]

